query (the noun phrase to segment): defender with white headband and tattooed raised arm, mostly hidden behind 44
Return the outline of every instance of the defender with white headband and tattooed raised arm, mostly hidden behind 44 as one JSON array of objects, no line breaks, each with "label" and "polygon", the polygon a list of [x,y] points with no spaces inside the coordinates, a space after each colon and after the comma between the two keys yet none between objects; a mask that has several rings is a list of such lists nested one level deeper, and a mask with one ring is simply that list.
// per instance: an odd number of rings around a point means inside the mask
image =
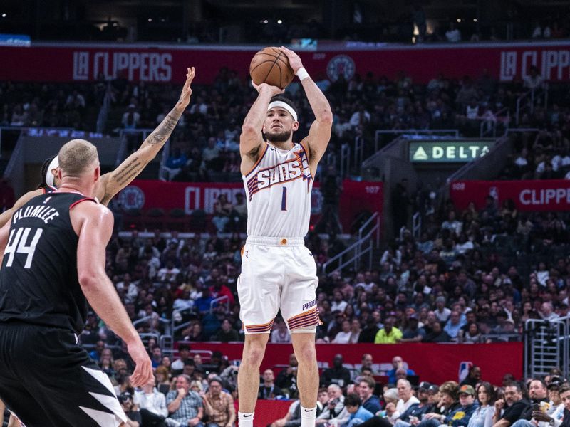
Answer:
[{"label": "defender with white headband and tattooed raised arm, mostly hidden behind 44", "polygon": [[[172,131],[176,127],[178,120],[182,116],[182,113],[190,103],[190,95],[192,95],[192,80],[194,79],[195,70],[194,67],[187,69],[186,82],[182,88],[182,93],[177,101],[176,105],[164,120],[157,126],[157,128],[152,131],[150,135],[142,142],[139,149],[131,154],[129,157],[119,165],[117,169],[108,174],[101,176],[100,185],[98,186],[95,197],[100,201],[101,204],[107,206],[111,199],[120,190],[124,189],[128,184],[130,184],[135,177],[140,174],[142,169],[145,169],[146,165],[149,164],[152,159],[156,157],[160,149],[164,146],[167,139],[172,134]],[[28,191],[24,196],[21,196],[11,209],[6,209],[6,211],[0,214],[0,227],[4,226],[6,222],[9,221],[12,214],[21,206],[24,206],[26,202],[35,196],[43,194],[46,189],[50,187],[57,188],[59,185],[58,177],[58,157],[53,157],[50,162],[46,162],[42,167],[42,185],[40,189]]]}]

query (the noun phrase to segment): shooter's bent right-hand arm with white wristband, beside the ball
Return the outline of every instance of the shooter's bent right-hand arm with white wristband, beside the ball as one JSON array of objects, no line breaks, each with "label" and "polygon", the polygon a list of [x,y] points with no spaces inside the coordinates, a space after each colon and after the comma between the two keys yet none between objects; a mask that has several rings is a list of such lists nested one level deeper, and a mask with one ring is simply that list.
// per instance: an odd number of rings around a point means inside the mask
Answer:
[{"label": "shooter's bent right-hand arm with white wristband, beside the ball", "polygon": [[[314,166],[325,154],[328,141],[331,139],[331,128],[333,127],[333,112],[331,105],[328,104],[325,95],[318,88],[313,79],[309,76],[303,68],[301,58],[294,51],[288,48],[281,47],[281,51],[289,58],[289,65],[293,69],[295,75],[301,80],[301,85],[305,90],[315,121],[309,130],[308,145],[309,145],[309,162]],[[311,169],[313,169],[311,167]]]}]

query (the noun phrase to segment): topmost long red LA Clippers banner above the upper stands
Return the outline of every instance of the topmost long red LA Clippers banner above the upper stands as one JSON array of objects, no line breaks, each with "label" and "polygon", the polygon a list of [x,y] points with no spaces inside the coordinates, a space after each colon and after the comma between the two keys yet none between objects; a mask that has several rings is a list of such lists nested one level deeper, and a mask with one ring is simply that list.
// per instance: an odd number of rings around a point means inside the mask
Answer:
[{"label": "topmost long red LA Clippers banner above the upper stands", "polygon": [[[94,43],[41,43],[31,47],[0,46],[7,66],[0,80],[93,81],[124,77],[149,83],[183,83],[186,68],[196,67],[195,83],[213,83],[219,69],[235,70],[247,78],[249,63],[263,46],[115,45]],[[502,82],[524,78],[532,65],[550,81],[570,80],[570,42],[453,43],[421,46],[385,43],[336,43],[316,51],[299,51],[305,68],[315,80],[332,81],[343,74],[347,80],[358,73],[393,79],[404,70],[414,83],[427,83],[443,73],[447,78],[474,78],[488,70]],[[477,59],[475,59],[477,58]],[[419,65],[419,66],[418,66]]]}]

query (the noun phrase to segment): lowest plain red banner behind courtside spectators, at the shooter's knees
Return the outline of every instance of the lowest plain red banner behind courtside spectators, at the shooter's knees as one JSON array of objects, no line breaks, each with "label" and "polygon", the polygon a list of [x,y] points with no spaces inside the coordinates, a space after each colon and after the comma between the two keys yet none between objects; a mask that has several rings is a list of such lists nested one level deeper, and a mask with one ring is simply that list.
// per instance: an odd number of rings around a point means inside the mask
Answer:
[{"label": "lowest plain red banner behind courtside spectators, at the shooter's knees", "polygon": [[[243,343],[226,344],[196,342],[191,350],[219,350],[229,360],[242,359]],[[502,384],[504,374],[522,376],[522,342],[492,344],[317,344],[316,357],[321,367],[332,366],[335,354],[342,354],[346,367],[360,367],[362,355],[372,354],[375,369],[390,365],[392,358],[401,356],[408,367],[420,377],[420,381],[442,384],[457,381],[472,365],[481,368],[482,379],[491,384]],[[267,344],[261,371],[278,365],[289,364],[291,344]]]}]

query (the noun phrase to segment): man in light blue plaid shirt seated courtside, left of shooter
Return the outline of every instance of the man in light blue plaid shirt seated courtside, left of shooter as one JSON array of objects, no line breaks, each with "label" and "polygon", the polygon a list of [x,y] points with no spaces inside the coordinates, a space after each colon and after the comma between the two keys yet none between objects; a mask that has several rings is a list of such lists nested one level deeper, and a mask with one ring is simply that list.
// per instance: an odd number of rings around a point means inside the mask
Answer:
[{"label": "man in light blue plaid shirt seated courtside, left of shooter", "polygon": [[165,420],[168,427],[203,427],[202,397],[190,390],[191,382],[189,376],[181,374],[176,379],[176,389],[168,392],[166,404],[170,416]]}]

